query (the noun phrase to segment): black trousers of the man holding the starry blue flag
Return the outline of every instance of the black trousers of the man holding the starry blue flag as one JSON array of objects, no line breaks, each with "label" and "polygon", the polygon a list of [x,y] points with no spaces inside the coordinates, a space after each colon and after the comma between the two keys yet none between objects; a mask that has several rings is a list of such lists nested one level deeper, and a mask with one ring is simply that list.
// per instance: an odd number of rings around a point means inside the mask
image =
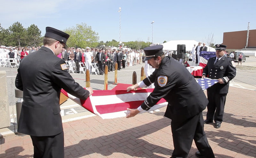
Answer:
[{"label": "black trousers of the man holding the starry blue flag", "polygon": [[[206,119],[221,124],[224,115],[224,106],[227,94],[218,94],[216,92],[207,91],[207,114]],[[213,117],[214,116],[214,117]]]}]

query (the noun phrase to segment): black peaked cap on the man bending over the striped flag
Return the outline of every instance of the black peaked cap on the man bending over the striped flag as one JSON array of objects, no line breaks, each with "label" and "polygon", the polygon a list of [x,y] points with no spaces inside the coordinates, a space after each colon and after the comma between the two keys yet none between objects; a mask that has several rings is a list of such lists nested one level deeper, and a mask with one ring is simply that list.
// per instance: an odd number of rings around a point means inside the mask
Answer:
[{"label": "black peaked cap on the man bending over the striped flag", "polygon": [[155,45],[144,48],[145,58],[144,61],[151,59],[152,57],[161,56],[164,54],[163,45]]}]

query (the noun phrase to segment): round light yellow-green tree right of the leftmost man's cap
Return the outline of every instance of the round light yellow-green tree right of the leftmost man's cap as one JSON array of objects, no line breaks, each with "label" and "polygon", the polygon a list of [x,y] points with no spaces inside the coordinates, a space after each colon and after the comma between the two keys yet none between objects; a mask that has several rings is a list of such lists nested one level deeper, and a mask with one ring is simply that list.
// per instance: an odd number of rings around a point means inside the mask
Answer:
[{"label": "round light yellow-green tree right of the leftmost man's cap", "polygon": [[76,24],[64,30],[70,35],[67,45],[69,47],[96,47],[99,43],[99,34],[92,30],[92,26],[85,23]]}]

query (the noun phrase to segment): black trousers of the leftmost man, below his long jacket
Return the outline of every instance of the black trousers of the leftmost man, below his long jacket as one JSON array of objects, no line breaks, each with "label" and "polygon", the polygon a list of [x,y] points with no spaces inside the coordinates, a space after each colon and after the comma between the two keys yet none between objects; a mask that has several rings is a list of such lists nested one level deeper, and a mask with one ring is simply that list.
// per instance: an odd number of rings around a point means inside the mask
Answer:
[{"label": "black trousers of the leftmost man, below his long jacket", "polygon": [[34,146],[34,158],[64,158],[64,133],[54,136],[30,136]]}]

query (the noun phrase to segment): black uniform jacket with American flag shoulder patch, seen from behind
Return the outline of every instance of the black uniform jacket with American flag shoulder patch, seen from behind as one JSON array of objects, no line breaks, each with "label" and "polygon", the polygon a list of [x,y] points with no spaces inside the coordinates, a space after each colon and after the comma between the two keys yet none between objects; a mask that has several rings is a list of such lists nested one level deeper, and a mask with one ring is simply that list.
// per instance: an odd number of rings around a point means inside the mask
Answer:
[{"label": "black uniform jacket with American flag shoulder patch, seen from behind", "polygon": [[89,91],[70,76],[63,59],[42,47],[20,63],[15,85],[23,91],[18,132],[31,136],[52,136],[63,131],[60,116],[60,90],[80,99]]}]

